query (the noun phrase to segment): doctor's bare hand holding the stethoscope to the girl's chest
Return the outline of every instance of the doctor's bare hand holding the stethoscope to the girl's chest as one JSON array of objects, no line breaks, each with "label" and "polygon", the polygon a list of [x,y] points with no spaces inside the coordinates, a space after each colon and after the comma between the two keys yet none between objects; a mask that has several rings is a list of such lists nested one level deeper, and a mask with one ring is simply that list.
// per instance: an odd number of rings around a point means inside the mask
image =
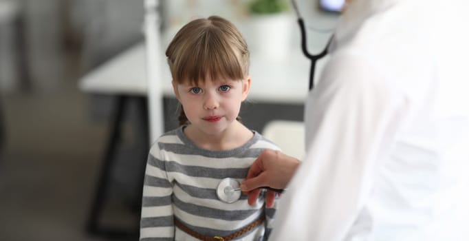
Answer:
[{"label": "doctor's bare hand holding the stethoscope to the girl's chest", "polygon": [[[287,156],[281,151],[266,149],[254,160],[246,180],[241,182],[241,191],[249,192],[248,203],[255,205],[261,189],[259,187],[272,187],[285,189],[294,175],[300,161],[292,156]],[[273,207],[275,192],[267,191],[265,196],[267,207]]]}]

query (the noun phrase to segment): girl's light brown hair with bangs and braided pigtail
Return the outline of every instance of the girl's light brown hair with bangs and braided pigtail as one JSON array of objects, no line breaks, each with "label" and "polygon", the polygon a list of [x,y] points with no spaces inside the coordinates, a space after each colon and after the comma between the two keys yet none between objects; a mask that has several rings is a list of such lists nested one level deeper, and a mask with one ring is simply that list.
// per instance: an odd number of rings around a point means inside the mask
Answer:
[{"label": "girl's light brown hair with bangs and braided pigtail", "polygon": [[[184,25],[166,49],[175,83],[197,85],[206,78],[241,81],[249,72],[249,50],[241,32],[218,16],[195,19]],[[184,110],[179,125],[188,124]]]}]

